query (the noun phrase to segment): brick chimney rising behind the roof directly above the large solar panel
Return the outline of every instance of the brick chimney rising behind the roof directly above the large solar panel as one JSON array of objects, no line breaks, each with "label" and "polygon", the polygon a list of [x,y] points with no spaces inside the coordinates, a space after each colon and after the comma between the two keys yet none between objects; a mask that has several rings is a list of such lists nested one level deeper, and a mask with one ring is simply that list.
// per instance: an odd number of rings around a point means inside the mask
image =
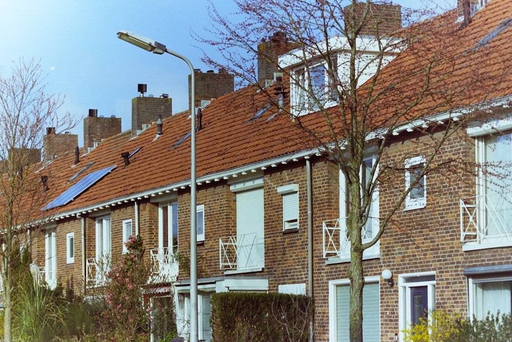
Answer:
[{"label": "brick chimney rising behind the roof directly above the large solar panel", "polygon": [[89,109],[89,116],[83,119],[83,153],[88,153],[102,139],[121,133],[120,117],[98,117],[97,109]]}]

